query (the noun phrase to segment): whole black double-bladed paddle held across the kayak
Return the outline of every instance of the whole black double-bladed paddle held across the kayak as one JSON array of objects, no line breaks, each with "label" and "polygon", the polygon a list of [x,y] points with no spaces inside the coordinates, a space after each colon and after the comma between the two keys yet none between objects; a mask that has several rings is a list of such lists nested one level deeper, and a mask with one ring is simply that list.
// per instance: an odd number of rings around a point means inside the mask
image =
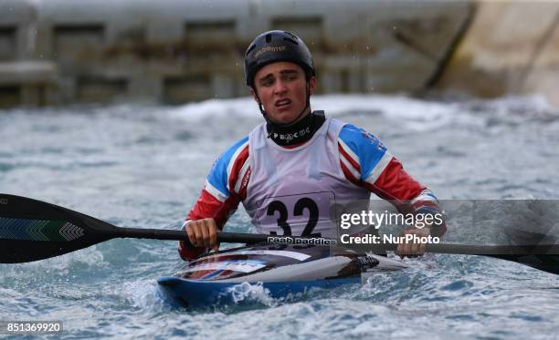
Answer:
[{"label": "whole black double-bladed paddle held across the kayak", "polygon": [[[183,231],[121,228],[44,201],[0,194],[0,263],[26,263],[74,252],[114,238],[185,241]],[[326,238],[220,232],[219,242],[332,245]],[[374,251],[394,251],[383,244]],[[428,244],[427,252],[485,255],[559,274],[559,245],[470,246]]]}]

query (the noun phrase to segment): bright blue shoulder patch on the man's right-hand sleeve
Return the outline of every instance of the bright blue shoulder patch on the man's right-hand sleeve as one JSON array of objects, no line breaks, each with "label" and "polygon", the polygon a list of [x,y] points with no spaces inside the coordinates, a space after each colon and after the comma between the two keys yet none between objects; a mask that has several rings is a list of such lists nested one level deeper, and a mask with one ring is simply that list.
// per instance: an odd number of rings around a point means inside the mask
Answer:
[{"label": "bright blue shoulder patch on the man's right-hand sleeve", "polygon": [[343,126],[340,131],[340,138],[359,158],[361,180],[366,180],[385,155],[385,145],[373,134],[353,124]]}]

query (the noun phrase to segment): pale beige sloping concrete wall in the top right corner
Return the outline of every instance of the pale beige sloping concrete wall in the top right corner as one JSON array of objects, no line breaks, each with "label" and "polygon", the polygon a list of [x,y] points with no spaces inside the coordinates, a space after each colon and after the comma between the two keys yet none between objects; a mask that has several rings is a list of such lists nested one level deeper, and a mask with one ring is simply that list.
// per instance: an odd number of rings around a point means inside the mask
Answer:
[{"label": "pale beige sloping concrete wall in the top right corner", "polygon": [[559,2],[476,3],[437,87],[487,98],[541,93],[559,108]]}]

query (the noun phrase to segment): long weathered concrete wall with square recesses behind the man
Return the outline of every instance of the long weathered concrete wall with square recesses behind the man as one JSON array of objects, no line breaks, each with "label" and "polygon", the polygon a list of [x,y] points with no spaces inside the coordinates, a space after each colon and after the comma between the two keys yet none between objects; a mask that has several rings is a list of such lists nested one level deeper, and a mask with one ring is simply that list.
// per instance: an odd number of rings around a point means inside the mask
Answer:
[{"label": "long weathered concrete wall with square recesses behind the man", "polygon": [[435,0],[3,0],[0,106],[246,96],[243,53],[286,29],[310,46],[319,92],[417,93],[468,26]]}]

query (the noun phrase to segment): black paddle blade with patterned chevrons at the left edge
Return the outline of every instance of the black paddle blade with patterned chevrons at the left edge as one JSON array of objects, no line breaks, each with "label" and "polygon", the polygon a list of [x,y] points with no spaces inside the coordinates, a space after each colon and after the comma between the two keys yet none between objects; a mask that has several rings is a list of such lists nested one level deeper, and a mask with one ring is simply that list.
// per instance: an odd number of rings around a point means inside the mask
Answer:
[{"label": "black paddle blade with patterned chevrons at the left edge", "polygon": [[77,211],[0,194],[0,263],[47,259],[117,235],[117,227]]}]

